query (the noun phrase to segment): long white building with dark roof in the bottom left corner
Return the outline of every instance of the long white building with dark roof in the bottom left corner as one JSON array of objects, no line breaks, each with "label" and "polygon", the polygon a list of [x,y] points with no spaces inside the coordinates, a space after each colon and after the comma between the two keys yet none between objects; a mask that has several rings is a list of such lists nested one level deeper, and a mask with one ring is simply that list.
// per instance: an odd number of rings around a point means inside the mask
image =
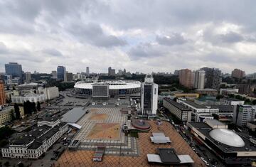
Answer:
[{"label": "long white building with dark roof in the bottom left corner", "polygon": [[1,148],[4,158],[39,158],[52,146],[63,134],[68,131],[68,124],[60,124],[51,127],[47,125],[38,126],[37,129],[19,136],[10,141],[8,145]]}]

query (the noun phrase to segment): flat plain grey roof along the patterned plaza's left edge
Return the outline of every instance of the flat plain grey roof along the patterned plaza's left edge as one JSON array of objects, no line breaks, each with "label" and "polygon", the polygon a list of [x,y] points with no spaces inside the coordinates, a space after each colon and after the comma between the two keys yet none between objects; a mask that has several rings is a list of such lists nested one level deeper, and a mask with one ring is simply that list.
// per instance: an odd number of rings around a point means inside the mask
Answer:
[{"label": "flat plain grey roof along the patterned plaza's left edge", "polygon": [[85,114],[85,110],[82,107],[71,109],[69,112],[63,115],[63,122],[76,123]]}]

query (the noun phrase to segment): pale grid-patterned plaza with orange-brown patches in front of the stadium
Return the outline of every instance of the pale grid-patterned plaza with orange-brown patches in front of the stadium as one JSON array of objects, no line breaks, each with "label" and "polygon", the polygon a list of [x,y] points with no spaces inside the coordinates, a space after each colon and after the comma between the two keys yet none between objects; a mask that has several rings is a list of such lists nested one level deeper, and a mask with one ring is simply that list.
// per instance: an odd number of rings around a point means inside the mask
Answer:
[{"label": "pale grid-patterned plaza with orange-brown patches in front of the stadium", "polygon": [[77,124],[82,129],[75,136],[80,141],[80,150],[95,151],[97,146],[105,146],[105,154],[138,156],[137,139],[125,136],[121,125],[127,122],[125,114],[120,112],[121,107],[88,107]]}]

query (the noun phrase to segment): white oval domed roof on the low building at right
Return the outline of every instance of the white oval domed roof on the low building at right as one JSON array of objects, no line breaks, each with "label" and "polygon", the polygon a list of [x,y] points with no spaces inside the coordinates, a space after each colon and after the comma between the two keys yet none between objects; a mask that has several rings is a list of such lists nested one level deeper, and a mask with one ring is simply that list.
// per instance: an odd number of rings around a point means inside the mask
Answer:
[{"label": "white oval domed roof on the low building at right", "polygon": [[210,136],[220,143],[228,146],[242,147],[245,146],[245,141],[238,134],[228,129],[213,129],[210,131]]}]

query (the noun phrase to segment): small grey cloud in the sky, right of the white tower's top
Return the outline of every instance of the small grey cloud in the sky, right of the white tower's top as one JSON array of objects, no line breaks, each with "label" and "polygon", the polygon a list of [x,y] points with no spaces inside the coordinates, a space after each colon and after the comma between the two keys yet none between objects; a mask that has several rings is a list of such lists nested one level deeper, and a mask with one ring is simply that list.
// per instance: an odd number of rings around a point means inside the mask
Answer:
[{"label": "small grey cloud in the sky, right of the white tower's top", "polygon": [[156,41],[161,45],[182,45],[187,42],[179,33],[173,33],[169,37],[156,36]]}]

